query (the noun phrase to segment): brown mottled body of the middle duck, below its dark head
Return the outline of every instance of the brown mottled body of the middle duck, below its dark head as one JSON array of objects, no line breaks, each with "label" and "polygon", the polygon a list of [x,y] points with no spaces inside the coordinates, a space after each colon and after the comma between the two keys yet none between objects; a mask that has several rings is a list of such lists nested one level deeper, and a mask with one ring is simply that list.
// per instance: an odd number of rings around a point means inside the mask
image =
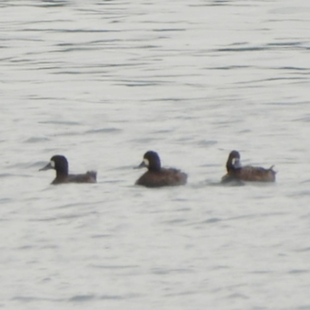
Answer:
[{"label": "brown mottled body of the middle duck, below its dark head", "polygon": [[147,171],[136,181],[137,185],[146,187],[185,185],[187,174],[177,169],[161,168],[160,171]]}]

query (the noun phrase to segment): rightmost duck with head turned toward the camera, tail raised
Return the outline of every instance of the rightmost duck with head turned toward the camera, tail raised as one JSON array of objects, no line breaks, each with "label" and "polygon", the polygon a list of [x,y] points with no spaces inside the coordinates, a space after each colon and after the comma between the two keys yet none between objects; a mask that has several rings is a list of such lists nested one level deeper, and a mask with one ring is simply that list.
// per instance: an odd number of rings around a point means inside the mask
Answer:
[{"label": "rightmost duck with head turned toward the camera, tail raised", "polygon": [[229,153],[226,162],[227,174],[222,177],[222,183],[230,181],[254,181],[254,182],[275,182],[276,171],[273,166],[268,169],[254,166],[242,166],[240,162],[240,154],[233,150]]}]

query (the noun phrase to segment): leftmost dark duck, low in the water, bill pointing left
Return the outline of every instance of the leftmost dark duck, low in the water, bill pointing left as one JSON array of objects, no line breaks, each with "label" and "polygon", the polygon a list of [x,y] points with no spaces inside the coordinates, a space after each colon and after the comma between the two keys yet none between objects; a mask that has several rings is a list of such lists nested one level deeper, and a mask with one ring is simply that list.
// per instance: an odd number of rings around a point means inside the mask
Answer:
[{"label": "leftmost dark duck, low in the water, bill pointing left", "polygon": [[56,178],[51,184],[63,184],[63,183],[96,183],[97,172],[87,171],[84,174],[69,174],[69,164],[66,157],[63,155],[54,155],[51,157],[50,162],[39,171],[55,169]]}]

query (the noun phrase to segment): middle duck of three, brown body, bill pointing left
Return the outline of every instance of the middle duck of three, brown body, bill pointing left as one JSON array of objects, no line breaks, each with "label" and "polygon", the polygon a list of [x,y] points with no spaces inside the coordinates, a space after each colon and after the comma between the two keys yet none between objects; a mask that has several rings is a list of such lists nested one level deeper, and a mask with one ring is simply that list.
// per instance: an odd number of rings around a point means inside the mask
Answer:
[{"label": "middle duck of three, brown body, bill pointing left", "polygon": [[141,164],[135,168],[147,168],[140,178],[135,182],[136,185],[145,187],[162,187],[185,185],[187,174],[174,168],[162,168],[160,158],[154,151],[147,151],[143,156]]}]

